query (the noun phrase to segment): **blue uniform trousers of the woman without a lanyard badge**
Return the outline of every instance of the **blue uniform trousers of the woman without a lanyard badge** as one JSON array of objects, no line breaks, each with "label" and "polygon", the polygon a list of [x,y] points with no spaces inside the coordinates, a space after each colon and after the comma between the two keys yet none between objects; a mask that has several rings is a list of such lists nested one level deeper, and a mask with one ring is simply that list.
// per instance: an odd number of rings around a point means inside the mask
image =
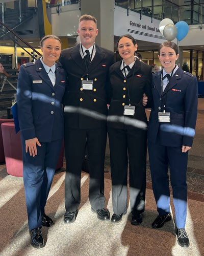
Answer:
[{"label": "blue uniform trousers of the woman without a lanyard badge", "polygon": [[22,139],[23,182],[25,202],[28,211],[29,229],[41,227],[42,215],[53,181],[62,139],[52,142],[40,142],[37,155],[25,153],[25,142]]}]

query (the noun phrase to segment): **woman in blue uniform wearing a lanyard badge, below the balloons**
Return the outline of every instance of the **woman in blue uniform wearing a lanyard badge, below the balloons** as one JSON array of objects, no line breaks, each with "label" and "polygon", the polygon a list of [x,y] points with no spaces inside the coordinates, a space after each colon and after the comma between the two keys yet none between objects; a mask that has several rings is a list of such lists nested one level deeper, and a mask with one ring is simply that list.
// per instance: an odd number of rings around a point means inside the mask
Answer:
[{"label": "woman in blue uniform wearing a lanyard badge, below the balloons", "polygon": [[179,54],[174,42],[165,41],[161,44],[158,57],[163,70],[152,77],[154,104],[147,135],[152,187],[159,212],[152,227],[160,228],[171,220],[169,167],[177,241],[182,247],[188,247],[189,239],[185,230],[186,171],[188,151],[195,134],[197,79],[175,65]]}]

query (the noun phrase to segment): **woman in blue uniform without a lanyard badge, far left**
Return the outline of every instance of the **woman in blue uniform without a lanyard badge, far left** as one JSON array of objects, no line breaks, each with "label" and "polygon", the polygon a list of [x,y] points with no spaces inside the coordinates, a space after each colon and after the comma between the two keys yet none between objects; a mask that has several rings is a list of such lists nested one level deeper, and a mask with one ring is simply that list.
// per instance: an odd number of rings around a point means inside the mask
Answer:
[{"label": "woman in blue uniform without a lanyard badge, far left", "polygon": [[66,85],[66,73],[55,62],[61,53],[60,39],[47,35],[40,46],[43,56],[20,67],[17,84],[25,201],[35,248],[44,246],[41,226],[54,224],[44,207],[64,136],[61,102]]}]

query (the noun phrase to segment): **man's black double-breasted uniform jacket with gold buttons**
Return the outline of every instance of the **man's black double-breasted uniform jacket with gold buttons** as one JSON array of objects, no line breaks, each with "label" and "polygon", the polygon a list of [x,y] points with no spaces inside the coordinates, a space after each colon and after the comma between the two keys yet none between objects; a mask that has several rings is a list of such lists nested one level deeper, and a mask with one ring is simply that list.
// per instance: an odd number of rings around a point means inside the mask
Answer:
[{"label": "man's black double-breasted uniform jacket with gold buttons", "polygon": [[93,80],[93,90],[82,89],[82,80],[86,79],[86,65],[80,54],[80,45],[63,50],[60,62],[68,76],[63,100],[65,127],[105,127],[108,112],[108,71],[114,63],[113,52],[96,46],[95,56],[88,67],[88,79]]}]

